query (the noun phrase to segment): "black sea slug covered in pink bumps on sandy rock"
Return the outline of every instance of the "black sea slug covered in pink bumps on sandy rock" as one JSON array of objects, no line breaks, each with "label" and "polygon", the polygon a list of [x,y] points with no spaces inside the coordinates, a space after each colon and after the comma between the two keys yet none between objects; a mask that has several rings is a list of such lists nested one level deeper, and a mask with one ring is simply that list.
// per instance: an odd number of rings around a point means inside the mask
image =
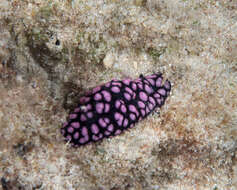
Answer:
[{"label": "black sea slug covered in pink bumps on sandy rock", "polygon": [[80,98],[61,133],[74,146],[119,135],[161,107],[169,92],[168,80],[161,74],[136,80],[112,80]]}]

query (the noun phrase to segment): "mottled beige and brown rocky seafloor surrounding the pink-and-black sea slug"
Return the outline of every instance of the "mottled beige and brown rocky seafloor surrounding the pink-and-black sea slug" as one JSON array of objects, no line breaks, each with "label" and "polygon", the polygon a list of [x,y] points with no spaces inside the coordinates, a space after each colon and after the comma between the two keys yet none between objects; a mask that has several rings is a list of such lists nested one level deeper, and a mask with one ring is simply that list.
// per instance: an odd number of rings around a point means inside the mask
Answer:
[{"label": "mottled beige and brown rocky seafloor surrounding the pink-and-black sea slug", "polygon": [[[237,188],[237,3],[1,0],[0,189]],[[81,95],[162,72],[165,105],[133,129],[72,148]]]}]

